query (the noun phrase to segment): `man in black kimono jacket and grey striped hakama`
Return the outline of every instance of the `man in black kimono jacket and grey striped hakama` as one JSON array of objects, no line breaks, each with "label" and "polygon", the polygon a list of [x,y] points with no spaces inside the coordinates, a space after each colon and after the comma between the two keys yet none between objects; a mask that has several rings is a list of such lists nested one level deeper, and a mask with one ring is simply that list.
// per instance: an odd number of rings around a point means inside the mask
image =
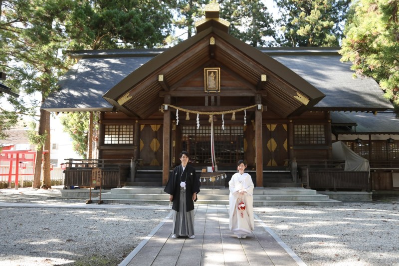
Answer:
[{"label": "man in black kimono jacket and grey striped hakama", "polygon": [[189,153],[182,151],[179,157],[182,164],[175,167],[164,189],[170,194],[169,200],[173,202],[172,238],[194,238],[194,202],[200,192],[200,181],[194,167],[188,165]]}]

